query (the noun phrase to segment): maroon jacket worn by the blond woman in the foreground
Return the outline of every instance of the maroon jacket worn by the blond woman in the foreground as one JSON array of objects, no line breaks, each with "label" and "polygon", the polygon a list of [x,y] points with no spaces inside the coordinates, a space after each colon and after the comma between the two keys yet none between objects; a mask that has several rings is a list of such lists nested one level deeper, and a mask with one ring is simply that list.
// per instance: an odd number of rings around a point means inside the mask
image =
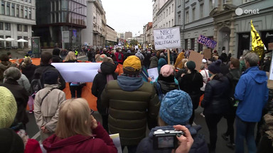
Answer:
[{"label": "maroon jacket worn by the blond woman in the foreground", "polygon": [[73,135],[65,139],[60,139],[54,134],[43,141],[43,147],[48,153],[117,153],[117,148],[114,146],[113,141],[100,123],[97,124],[97,128],[92,130],[92,134],[94,134],[94,137]]}]

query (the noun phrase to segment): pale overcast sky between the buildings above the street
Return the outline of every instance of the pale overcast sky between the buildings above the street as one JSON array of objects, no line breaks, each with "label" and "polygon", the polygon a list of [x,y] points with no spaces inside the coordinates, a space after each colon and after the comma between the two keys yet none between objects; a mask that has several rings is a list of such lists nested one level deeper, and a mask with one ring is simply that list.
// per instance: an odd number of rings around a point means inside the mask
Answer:
[{"label": "pale overcast sky between the buildings above the street", "polygon": [[117,33],[143,33],[143,26],[153,21],[152,0],[102,0],[107,25]]}]

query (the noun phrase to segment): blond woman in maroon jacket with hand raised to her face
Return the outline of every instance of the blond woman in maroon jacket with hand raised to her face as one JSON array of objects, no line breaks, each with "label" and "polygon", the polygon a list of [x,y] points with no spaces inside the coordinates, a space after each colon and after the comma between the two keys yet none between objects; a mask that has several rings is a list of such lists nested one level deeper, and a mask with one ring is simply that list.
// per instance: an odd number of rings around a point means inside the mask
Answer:
[{"label": "blond woman in maroon jacket with hand raised to her face", "polygon": [[60,106],[55,134],[43,141],[50,152],[117,152],[113,141],[93,117],[84,98],[68,99]]}]

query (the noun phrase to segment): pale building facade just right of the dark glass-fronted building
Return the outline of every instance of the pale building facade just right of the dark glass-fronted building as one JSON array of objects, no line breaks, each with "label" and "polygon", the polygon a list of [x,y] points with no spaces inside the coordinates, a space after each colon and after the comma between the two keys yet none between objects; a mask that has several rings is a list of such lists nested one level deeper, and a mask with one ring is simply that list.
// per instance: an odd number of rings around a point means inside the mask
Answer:
[{"label": "pale building facade just right of the dark glass-fronted building", "polygon": [[82,44],[105,47],[107,24],[100,0],[87,0],[87,28],[82,30]]}]

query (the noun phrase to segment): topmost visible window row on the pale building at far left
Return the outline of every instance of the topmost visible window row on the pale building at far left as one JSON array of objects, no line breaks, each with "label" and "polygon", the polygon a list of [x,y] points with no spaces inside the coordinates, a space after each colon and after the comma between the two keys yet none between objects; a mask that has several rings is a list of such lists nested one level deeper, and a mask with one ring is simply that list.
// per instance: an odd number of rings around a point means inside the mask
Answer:
[{"label": "topmost visible window row on the pale building at far left", "polygon": [[31,19],[32,8],[26,6],[1,1],[1,14],[6,16],[16,16],[18,18]]}]

